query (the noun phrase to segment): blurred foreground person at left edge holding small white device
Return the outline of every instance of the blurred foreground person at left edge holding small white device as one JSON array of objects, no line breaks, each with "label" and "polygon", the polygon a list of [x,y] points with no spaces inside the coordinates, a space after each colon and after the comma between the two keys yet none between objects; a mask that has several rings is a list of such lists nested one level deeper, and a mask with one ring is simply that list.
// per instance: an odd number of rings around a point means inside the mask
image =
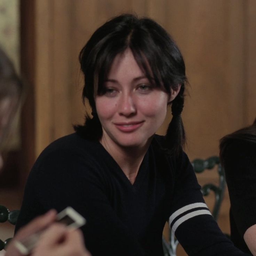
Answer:
[{"label": "blurred foreground person at left edge holding small white device", "polygon": [[[0,145],[4,145],[11,129],[11,123],[21,103],[23,86],[17,77],[13,64],[0,49]],[[1,148],[2,149],[2,148]],[[2,168],[2,158],[0,154]],[[31,256],[90,256],[84,247],[80,231],[68,231],[63,225],[54,224],[56,211],[51,210],[37,217],[23,227],[7,246],[5,256],[22,256],[15,247],[15,241],[42,231],[41,239]],[[60,242],[62,241],[62,242]]]}]

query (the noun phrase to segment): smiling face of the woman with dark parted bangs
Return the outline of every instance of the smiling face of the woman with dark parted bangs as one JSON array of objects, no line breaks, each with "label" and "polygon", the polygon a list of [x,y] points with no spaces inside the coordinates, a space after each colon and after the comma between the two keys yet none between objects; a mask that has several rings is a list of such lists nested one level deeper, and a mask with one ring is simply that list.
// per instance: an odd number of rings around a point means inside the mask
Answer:
[{"label": "smiling face of the woman with dark parted bangs", "polygon": [[104,92],[95,97],[105,147],[144,147],[165,120],[169,96],[150,83],[130,49],[115,57]]}]

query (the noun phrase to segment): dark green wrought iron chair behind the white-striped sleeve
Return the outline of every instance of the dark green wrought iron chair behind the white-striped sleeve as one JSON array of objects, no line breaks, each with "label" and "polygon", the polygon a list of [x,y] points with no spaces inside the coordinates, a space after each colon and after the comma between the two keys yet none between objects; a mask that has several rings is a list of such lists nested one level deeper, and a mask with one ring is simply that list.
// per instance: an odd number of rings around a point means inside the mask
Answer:
[{"label": "dark green wrought iron chair behind the white-striped sleeve", "polygon": [[[201,159],[195,159],[192,162],[192,166],[194,168],[195,173],[202,173],[205,169],[213,169],[217,165],[218,169],[218,175],[219,175],[219,182],[218,186],[208,183],[202,186],[201,191],[203,196],[209,195],[211,191],[215,194],[215,202],[214,202],[214,208],[212,211],[212,215],[214,219],[217,221],[219,209],[221,207],[221,203],[223,201],[224,192],[225,192],[225,173],[224,169],[222,168],[219,157],[210,157],[206,160]],[[162,239],[163,242],[163,251],[165,256],[176,256],[176,250],[178,246],[178,240],[174,236],[173,232],[169,231],[169,240],[167,241],[164,237]]]}]

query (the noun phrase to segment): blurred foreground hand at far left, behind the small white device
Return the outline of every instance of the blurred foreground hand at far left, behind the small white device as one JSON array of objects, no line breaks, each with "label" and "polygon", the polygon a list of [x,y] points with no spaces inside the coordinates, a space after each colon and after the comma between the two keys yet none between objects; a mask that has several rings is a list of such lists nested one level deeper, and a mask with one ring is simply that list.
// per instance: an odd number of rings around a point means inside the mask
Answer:
[{"label": "blurred foreground hand at far left, behind the small white device", "polygon": [[22,256],[22,254],[17,250],[14,245],[15,241],[19,239],[24,239],[35,232],[45,229],[47,226],[55,221],[56,215],[57,212],[55,210],[50,210],[45,215],[33,219],[33,221],[20,229],[15,237],[8,244],[5,256]]}]

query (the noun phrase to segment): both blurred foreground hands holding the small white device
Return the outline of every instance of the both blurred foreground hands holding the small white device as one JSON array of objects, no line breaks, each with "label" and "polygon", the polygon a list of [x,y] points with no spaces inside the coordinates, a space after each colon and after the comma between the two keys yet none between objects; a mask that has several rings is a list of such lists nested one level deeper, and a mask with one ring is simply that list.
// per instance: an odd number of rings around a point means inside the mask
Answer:
[{"label": "both blurred foreground hands holding the small white device", "polygon": [[30,256],[91,256],[86,250],[80,230],[69,231],[64,225],[54,223],[56,211],[50,210],[23,227],[11,240],[5,256],[22,256],[15,241],[45,229]]}]

